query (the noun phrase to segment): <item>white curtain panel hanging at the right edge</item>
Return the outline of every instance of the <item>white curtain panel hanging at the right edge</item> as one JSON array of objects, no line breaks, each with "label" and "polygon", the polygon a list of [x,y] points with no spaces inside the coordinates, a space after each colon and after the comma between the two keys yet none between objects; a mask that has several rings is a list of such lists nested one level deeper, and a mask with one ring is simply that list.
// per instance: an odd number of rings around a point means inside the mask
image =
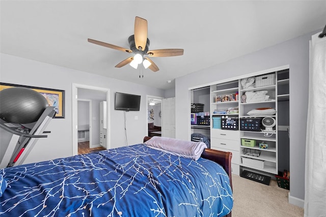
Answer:
[{"label": "white curtain panel hanging at the right edge", "polygon": [[325,216],[326,208],[326,37],[310,41],[306,139],[305,216]]}]

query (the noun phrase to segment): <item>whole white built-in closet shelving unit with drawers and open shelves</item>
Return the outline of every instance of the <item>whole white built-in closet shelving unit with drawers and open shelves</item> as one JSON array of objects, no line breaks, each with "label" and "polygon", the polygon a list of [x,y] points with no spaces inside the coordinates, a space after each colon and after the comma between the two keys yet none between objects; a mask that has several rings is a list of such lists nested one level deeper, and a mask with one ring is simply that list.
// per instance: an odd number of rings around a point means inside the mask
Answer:
[{"label": "whole white built-in closet shelving unit with drawers and open shelves", "polygon": [[[278,174],[278,171],[283,169],[289,169],[289,150],[284,148],[288,146],[289,139],[286,138],[286,134],[282,135],[282,138],[279,138],[280,130],[279,122],[282,123],[282,128],[289,127],[289,120],[286,113],[289,111],[289,68],[288,67],[279,67],[274,70],[265,70],[262,73],[251,74],[253,77],[257,76],[274,76],[275,83],[267,84],[263,87],[254,87],[248,89],[242,89],[241,79],[235,79],[227,83],[216,83],[210,85],[210,117],[211,117],[211,126],[210,126],[210,138],[211,138],[211,148],[222,151],[232,152],[232,173],[239,175],[242,170],[253,170],[268,174]],[[273,80],[273,79],[272,79]],[[258,102],[241,102],[241,96],[248,91],[257,92],[257,91],[267,91],[269,96],[267,101],[258,101]],[[238,92],[238,100],[235,100],[234,94]],[[230,95],[231,94],[231,95]],[[216,101],[216,96],[218,98],[223,98],[223,96],[229,95],[231,101]],[[227,111],[230,107],[238,107],[238,113],[231,114],[214,114],[214,111]],[[277,111],[275,115],[261,115],[261,116],[250,116],[247,113],[251,110],[262,108],[262,107],[271,107],[275,108]],[[281,107],[282,110],[278,110]],[[286,111],[287,110],[287,111]],[[281,112],[282,111],[282,112]],[[284,114],[282,114],[284,113]],[[225,129],[215,129],[213,128],[213,117],[220,118],[238,118],[239,120],[239,129],[238,130],[225,130]],[[240,130],[240,120],[241,119],[251,119],[251,118],[260,118],[264,117],[274,118],[276,120],[275,131],[263,132],[263,131],[247,131]],[[263,127],[261,127],[263,128]],[[264,128],[263,128],[264,129]],[[241,139],[255,140],[256,145],[254,147],[242,146]],[[287,141],[286,141],[287,140]],[[285,141],[285,142],[284,142]],[[265,142],[268,145],[267,149],[259,148],[259,143]],[[279,147],[280,143],[282,147]],[[245,152],[248,151],[248,148],[253,152],[260,152],[259,156],[247,155]],[[280,157],[281,156],[281,157]],[[263,161],[263,167],[256,166],[255,164],[246,164],[242,162],[242,157],[246,157],[248,160],[258,160],[259,162]],[[282,166],[280,167],[280,159]],[[253,166],[254,165],[254,166]]]}]

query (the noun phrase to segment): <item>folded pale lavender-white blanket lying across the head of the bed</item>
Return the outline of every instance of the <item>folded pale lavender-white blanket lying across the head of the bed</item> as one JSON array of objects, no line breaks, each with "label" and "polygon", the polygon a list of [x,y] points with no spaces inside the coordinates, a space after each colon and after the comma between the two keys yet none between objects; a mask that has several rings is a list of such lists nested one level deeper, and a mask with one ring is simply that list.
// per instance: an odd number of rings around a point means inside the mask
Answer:
[{"label": "folded pale lavender-white blanket lying across the head of the bed", "polygon": [[153,149],[194,160],[198,160],[204,149],[207,148],[203,142],[191,142],[167,137],[152,137],[144,144]]}]

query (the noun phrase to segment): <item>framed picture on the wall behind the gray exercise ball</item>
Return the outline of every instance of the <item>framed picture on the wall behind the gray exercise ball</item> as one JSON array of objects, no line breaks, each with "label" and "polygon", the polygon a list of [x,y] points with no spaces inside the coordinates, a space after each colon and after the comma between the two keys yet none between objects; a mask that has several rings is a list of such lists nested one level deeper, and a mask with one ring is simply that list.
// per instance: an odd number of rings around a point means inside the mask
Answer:
[{"label": "framed picture on the wall behind the gray exercise ball", "polygon": [[0,82],[0,91],[7,88],[14,87],[22,87],[22,88],[30,88],[42,94],[47,100],[49,106],[55,106],[55,110],[57,112],[55,118],[65,118],[65,91],[64,90],[56,90],[50,88],[40,88],[40,87],[32,87],[25,85],[16,85],[16,84],[8,84]]}]

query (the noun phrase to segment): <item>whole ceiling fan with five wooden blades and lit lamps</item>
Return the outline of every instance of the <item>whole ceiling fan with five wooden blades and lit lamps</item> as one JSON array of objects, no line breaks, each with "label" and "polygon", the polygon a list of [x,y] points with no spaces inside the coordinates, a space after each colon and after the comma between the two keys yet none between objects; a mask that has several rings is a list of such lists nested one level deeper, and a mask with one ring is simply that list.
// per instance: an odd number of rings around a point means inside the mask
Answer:
[{"label": "whole ceiling fan with five wooden blades and lit lamps", "polygon": [[137,69],[138,65],[143,63],[145,69],[149,68],[156,72],[159,70],[158,67],[148,57],[174,57],[183,55],[183,49],[148,50],[149,39],[147,38],[147,20],[141,17],[135,17],[134,19],[134,34],[128,38],[130,49],[93,39],[88,39],[88,42],[127,53],[134,53],[133,57],[129,57],[118,63],[115,66],[116,68],[121,68],[122,66],[130,64],[130,66]]}]

